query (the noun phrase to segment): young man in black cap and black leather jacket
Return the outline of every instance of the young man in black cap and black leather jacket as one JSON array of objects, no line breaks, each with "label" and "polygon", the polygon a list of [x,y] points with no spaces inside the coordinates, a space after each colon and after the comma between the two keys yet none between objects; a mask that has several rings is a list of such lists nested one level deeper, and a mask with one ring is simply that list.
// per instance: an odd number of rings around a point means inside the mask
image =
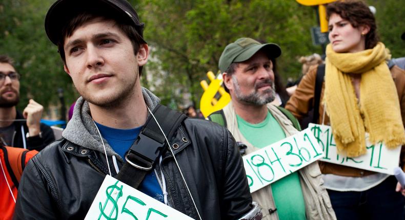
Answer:
[{"label": "young man in black cap and black leather jacket", "polygon": [[140,86],[143,26],[126,0],[49,9],[47,35],[82,97],[64,139],[26,167],[16,219],[83,219],[107,174],[195,219],[260,216],[229,131],[184,119]]}]

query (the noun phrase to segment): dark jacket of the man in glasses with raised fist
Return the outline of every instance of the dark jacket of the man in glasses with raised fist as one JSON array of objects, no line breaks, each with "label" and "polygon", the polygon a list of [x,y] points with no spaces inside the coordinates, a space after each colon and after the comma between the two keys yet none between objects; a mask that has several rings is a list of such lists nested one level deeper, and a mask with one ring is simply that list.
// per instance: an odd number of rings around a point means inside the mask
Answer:
[{"label": "dark jacket of the man in glasses with raised fist", "polygon": [[[15,118],[24,119],[23,115],[18,111]],[[39,151],[55,140],[51,127],[46,124],[40,123],[42,137],[39,137],[38,135],[29,138],[26,138],[28,127],[25,121],[15,121],[13,124],[15,126],[13,142],[11,143],[11,146],[13,147]]]}]

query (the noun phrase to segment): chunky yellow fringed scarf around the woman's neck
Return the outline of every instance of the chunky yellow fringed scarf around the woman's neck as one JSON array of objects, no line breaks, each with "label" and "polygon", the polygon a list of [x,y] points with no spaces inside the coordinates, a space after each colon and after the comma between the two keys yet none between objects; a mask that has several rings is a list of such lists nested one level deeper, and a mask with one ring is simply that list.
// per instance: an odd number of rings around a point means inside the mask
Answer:
[{"label": "chunky yellow fringed scarf around the woman's neck", "polygon": [[[357,53],[326,49],[325,95],[327,113],[338,151],[349,157],[366,153],[365,132],[370,142],[382,141],[388,148],[405,143],[399,99],[383,43]],[[349,74],[361,74],[360,102]]]}]

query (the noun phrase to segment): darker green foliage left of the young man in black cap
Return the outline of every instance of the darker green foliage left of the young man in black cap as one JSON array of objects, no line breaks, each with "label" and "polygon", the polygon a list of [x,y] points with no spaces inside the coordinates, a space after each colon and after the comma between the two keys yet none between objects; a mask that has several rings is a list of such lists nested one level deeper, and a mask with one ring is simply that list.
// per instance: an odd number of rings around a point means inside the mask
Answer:
[{"label": "darker green foliage left of the young man in black cap", "polygon": [[0,3],[0,54],[12,57],[16,70],[22,75],[19,109],[27,105],[29,98],[45,107],[59,103],[58,88],[64,89],[67,105],[77,98],[57,48],[48,40],[43,28],[45,14],[53,2],[9,0]]}]

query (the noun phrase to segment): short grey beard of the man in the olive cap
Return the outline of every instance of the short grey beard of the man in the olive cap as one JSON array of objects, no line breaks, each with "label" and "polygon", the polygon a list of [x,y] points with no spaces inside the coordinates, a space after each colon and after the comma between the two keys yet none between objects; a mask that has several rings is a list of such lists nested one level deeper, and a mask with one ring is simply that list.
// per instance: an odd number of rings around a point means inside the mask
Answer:
[{"label": "short grey beard of the man in the olive cap", "polygon": [[[275,90],[275,86],[274,86],[274,82],[271,81],[270,79],[266,79],[264,81],[260,81],[258,83],[255,83],[255,91],[251,94],[248,95],[244,95],[241,94],[240,92],[240,87],[238,84],[238,81],[236,79],[235,76],[232,76],[233,78],[233,85],[235,88],[235,95],[236,98],[239,99],[240,101],[246,102],[246,103],[250,103],[253,105],[265,105],[267,103],[270,103],[272,101],[274,101],[275,99],[275,95],[276,95],[276,90]],[[261,92],[261,94],[259,93],[258,89],[262,84],[270,84],[271,88],[264,90]]]}]

